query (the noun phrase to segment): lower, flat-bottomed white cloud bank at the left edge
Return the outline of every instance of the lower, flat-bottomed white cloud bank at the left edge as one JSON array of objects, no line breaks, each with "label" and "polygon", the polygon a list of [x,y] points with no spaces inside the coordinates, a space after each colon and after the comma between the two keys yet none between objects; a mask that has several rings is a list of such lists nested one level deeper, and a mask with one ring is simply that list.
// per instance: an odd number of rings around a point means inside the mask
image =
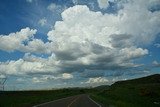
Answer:
[{"label": "lower, flat-bottomed white cloud bank at the left edge", "polygon": [[2,74],[8,75],[54,74],[59,71],[57,63],[52,56],[45,59],[27,53],[17,61],[1,62],[0,68]]}]

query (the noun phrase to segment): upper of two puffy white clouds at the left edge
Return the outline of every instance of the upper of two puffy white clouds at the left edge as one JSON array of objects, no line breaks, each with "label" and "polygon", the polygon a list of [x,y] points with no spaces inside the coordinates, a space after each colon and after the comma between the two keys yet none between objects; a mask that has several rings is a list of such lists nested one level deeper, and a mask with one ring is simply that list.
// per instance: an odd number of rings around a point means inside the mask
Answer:
[{"label": "upper of two puffy white clouds at the left edge", "polygon": [[34,38],[36,29],[24,28],[19,32],[10,33],[9,35],[0,35],[0,49],[3,51],[50,54],[51,44],[44,43],[41,39]]}]

